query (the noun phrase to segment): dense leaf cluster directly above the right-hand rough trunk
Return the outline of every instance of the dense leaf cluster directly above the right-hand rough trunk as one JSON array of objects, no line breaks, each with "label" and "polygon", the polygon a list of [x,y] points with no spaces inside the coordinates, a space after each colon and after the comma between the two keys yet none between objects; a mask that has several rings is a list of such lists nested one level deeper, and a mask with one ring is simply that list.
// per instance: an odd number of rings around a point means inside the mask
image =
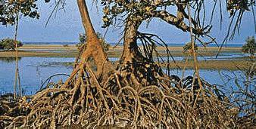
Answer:
[{"label": "dense leaf cluster directly above the right-hand rough trunk", "polygon": [[103,27],[110,26],[111,23],[115,23],[115,20],[119,18],[133,21],[146,20],[151,17],[151,14],[155,13],[158,7],[173,5],[173,3],[169,1],[170,0],[101,0],[101,4],[104,6],[103,12],[105,14],[102,18],[104,22]]}]

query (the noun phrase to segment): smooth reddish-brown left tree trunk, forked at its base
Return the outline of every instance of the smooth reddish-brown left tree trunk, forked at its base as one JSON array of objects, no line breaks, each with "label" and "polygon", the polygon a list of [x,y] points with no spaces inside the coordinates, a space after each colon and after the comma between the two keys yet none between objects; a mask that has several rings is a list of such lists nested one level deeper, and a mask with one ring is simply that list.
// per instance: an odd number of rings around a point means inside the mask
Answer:
[{"label": "smooth reddish-brown left tree trunk, forked at its base", "polygon": [[97,77],[99,78],[103,72],[106,72],[106,68],[104,68],[104,66],[107,67],[108,71],[111,69],[109,68],[111,67],[111,63],[108,61],[101,42],[98,40],[92,26],[85,0],[77,0],[77,5],[80,10],[83,26],[87,36],[86,50],[81,54],[80,62],[84,63],[89,59],[89,57],[92,57],[95,61],[95,65],[97,66]]}]

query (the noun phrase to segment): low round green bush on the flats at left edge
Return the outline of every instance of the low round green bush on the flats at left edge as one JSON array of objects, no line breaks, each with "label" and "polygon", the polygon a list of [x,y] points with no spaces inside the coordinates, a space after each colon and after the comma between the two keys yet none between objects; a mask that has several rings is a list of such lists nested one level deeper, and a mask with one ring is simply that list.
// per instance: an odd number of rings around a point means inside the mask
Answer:
[{"label": "low round green bush on the flats at left edge", "polygon": [[[17,41],[17,47],[21,47],[21,46],[23,46],[21,41]],[[0,41],[0,49],[7,50],[7,51],[14,50],[15,49],[14,39],[11,39],[11,38],[2,39]]]}]

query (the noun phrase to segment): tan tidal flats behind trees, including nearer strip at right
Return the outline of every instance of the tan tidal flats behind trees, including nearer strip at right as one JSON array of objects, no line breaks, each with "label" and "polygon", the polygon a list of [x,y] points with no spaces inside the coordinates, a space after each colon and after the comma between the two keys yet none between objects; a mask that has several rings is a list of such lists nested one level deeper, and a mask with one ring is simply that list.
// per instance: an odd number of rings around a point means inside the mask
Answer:
[{"label": "tan tidal flats behind trees, including nearer strip at right", "polygon": [[[158,47],[158,51],[161,53],[161,56],[165,56],[164,52],[165,47]],[[185,57],[186,54],[183,53],[183,47],[168,47],[170,53],[173,57]],[[108,57],[119,58],[122,54],[123,47],[110,47]],[[216,56],[219,48],[216,47],[198,47],[198,57],[214,57]],[[78,49],[76,45],[23,45],[19,48],[18,57],[76,57],[78,54]],[[225,55],[233,54],[242,54],[241,48],[223,48],[222,53]],[[221,55],[220,54],[220,55]],[[14,51],[0,51],[0,58],[9,58],[15,57]],[[199,67],[201,69],[230,69],[236,70],[239,68],[246,68],[246,63],[248,63],[247,57],[235,57],[232,59],[223,58],[222,60],[199,60]],[[159,63],[161,66],[166,66],[164,63]],[[170,68],[177,68],[177,66],[185,66],[184,60],[176,60],[176,64],[172,61],[170,62]],[[193,63],[192,60],[189,60],[187,68],[192,69]]]}]

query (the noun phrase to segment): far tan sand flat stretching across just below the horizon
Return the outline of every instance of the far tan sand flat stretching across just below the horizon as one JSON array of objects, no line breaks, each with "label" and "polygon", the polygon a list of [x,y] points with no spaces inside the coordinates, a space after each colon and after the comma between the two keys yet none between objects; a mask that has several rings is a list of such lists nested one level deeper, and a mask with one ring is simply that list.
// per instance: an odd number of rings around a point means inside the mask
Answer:
[{"label": "far tan sand flat stretching across just below the horizon", "polygon": [[[166,48],[158,47],[158,51],[164,56]],[[182,47],[168,47],[173,57],[183,56]],[[77,47],[69,45],[23,45],[19,48],[19,57],[75,57],[77,54]],[[109,57],[120,57],[123,47],[111,47],[108,51]],[[198,54],[202,56],[215,56],[219,48],[198,48]],[[241,48],[223,48],[222,52],[240,52]],[[15,57],[14,51],[0,51],[0,57]]]}]

